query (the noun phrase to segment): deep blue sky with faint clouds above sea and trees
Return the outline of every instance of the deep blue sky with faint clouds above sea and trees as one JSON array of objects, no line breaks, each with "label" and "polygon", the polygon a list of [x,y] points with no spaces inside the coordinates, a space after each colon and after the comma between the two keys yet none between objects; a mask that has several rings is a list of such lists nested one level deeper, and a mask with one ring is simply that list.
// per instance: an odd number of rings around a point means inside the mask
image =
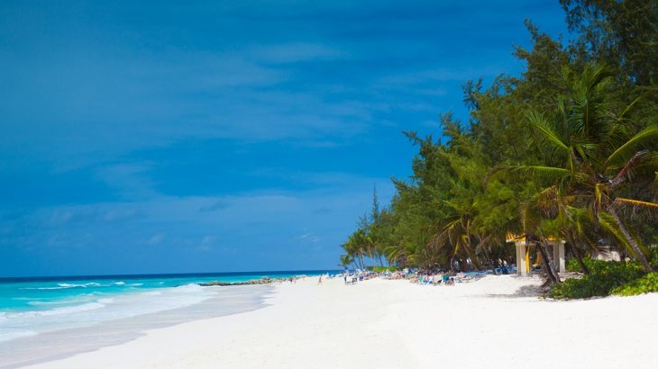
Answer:
[{"label": "deep blue sky with faint clouds above sea and trees", "polygon": [[524,19],[566,35],[557,0],[4,0],[0,276],[336,269]]}]

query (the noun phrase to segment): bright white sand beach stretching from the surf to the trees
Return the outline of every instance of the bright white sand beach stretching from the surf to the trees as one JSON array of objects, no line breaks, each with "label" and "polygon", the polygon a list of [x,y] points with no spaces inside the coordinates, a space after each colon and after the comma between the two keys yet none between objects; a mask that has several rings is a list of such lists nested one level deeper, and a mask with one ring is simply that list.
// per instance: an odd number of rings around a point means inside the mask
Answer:
[{"label": "bright white sand beach stretching from the surf to the trees", "polygon": [[553,302],[537,279],[455,286],[316,278],[257,311],[154,329],[34,368],[656,368],[658,293]]}]

